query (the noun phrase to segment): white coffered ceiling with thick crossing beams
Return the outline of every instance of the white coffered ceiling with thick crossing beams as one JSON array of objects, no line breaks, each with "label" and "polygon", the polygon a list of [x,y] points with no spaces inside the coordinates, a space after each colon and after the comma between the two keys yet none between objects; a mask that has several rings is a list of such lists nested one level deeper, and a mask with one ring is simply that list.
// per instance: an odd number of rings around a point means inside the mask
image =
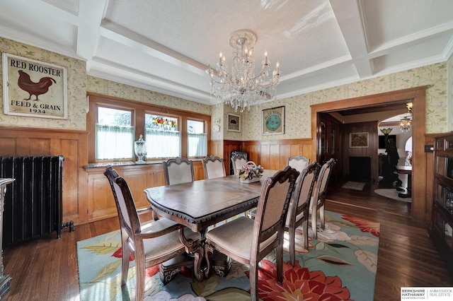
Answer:
[{"label": "white coffered ceiling with thick crossing beams", "polygon": [[87,73],[205,104],[229,35],[280,62],[277,98],[446,61],[451,0],[0,0],[0,36],[86,61]]}]

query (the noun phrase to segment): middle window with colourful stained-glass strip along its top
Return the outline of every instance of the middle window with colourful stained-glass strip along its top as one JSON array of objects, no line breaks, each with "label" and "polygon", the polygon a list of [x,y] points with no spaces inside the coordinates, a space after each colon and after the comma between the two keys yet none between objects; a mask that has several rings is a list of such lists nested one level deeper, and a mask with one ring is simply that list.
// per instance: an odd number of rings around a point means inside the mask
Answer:
[{"label": "middle window with colourful stained-glass strip along its top", "polygon": [[178,131],[178,119],[145,114],[144,120],[147,158],[180,157],[181,136]]}]

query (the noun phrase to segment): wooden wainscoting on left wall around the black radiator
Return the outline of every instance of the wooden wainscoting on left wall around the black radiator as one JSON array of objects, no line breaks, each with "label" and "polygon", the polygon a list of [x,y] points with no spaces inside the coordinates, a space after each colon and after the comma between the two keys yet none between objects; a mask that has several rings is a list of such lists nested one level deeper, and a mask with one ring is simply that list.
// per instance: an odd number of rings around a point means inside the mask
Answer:
[{"label": "wooden wainscoting on left wall around the black radiator", "polygon": [[63,155],[63,223],[79,218],[79,200],[86,199],[88,164],[86,131],[0,127],[0,155]]}]

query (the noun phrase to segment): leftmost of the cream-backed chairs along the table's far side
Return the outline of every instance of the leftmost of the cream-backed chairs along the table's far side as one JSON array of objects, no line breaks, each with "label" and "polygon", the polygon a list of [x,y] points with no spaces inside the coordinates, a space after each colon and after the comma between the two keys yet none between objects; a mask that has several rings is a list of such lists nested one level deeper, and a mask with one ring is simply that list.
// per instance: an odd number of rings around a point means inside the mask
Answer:
[{"label": "leftmost of the cream-backed chairs along the table's far side", "polygon": [[176,157],[164,162],[164,179],[166,185],[193,182],[193,163],[187,158]]}]

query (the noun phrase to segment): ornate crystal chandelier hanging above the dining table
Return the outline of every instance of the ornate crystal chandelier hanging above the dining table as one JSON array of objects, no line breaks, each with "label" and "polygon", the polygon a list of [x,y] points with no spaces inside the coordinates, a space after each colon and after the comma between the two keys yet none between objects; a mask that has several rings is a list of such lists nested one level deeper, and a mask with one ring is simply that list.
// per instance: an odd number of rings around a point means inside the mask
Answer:
[{"label": "ornate crystal chandelier hanging above the dining table", "polygon": [[253,45],[256,35],[251,30],[236,30],[229,37],[229,45],[233,47],[231,73],[226,66],[222,53],[217,62],[217,69],[208,66],[206,73],[210,77],[211,95],[224,104],[234,107],[237,112],[250,110],[252,105],[272,101],[276,98],[275,86],[280,81],[279,64],[275,66],[272,77],[269,74],[268,52],[264,54],[261,71],[255,72]]}]

